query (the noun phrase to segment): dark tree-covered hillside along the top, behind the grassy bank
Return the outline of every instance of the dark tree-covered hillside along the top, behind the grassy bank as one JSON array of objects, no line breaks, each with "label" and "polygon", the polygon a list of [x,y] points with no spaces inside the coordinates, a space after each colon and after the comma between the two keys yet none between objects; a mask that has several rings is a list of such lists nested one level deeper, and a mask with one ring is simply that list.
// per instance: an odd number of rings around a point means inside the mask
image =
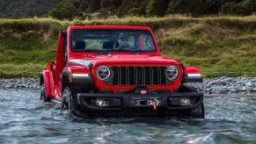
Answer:
[{"label": "dark tree-covered hillside along the top, behind the grassy bank", "polygon": [[255,14],[255,0],[1,0],[0,18],[193,17]]}]

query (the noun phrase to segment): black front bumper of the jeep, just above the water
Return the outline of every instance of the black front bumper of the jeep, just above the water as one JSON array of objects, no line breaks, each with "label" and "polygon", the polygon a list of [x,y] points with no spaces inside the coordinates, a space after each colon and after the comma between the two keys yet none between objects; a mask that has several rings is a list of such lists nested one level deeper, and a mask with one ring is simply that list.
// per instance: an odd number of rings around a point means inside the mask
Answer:
[{"label": "black front bumper of the jeep, just above the water", "polygon": [[[95,104],[97,98],[110,102],[109,106],[100,107]],[[191,104],[181,105],[181,98],[189,98]],[[157,111],[147,101],[157,100]],[[106,93],[78,93],[77,100],[84,112],[110,116],[151,116],[173,115],[177,112],[193,110],[203,103],[203,94],[200,92],[174,92],[157,94],[106,94]]]}]

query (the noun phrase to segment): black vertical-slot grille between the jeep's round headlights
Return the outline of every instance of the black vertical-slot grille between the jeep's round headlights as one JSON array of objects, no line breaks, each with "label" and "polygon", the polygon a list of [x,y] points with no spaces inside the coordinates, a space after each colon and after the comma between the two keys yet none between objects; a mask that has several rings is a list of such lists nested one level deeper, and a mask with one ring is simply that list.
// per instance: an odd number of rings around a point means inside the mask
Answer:
[{"label": "black vertical-slot grille between the jeep's round headlights", "polygon": [[165,85],[165,67],[112,67],[113,85]]}]

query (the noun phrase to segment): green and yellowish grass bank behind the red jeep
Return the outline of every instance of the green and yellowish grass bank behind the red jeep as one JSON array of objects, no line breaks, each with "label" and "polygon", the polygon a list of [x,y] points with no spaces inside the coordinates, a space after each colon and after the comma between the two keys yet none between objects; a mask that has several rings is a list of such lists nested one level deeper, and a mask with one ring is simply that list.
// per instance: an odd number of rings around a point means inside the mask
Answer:
[{"label": "green and yellowish grass bank behind the red jeep", "polygon": [[204,77],[256,76],[256,16],[170,16],[84,21],[0,19],[0,77],[38,77],[48,61],[55,61],[58,33],[69,25],[147,25],[163,55],[201,68]]}]

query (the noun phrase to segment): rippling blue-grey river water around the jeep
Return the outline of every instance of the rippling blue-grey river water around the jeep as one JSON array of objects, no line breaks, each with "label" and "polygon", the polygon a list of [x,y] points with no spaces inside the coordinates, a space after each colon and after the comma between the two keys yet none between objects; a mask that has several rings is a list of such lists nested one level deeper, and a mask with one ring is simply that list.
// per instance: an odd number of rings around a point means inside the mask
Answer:
[{"label": "rippling blue-grey river water around the jeep", "polygon": [[0,90],[0,143],[256,143],[256,96],[205,97],[206,119],[73,119],[39,90]]}]

